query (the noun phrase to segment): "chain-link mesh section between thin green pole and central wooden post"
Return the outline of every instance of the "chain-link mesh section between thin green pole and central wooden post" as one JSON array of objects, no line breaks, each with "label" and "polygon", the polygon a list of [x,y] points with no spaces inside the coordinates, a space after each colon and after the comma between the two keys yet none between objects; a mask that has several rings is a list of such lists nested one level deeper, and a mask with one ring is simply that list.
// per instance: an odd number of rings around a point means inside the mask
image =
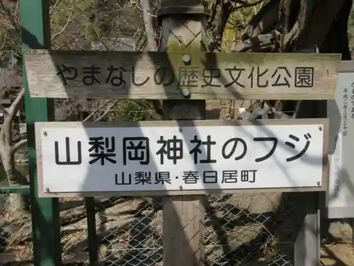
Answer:
[{"label": "chain-link mesh section between thin green pole and central wooden post", "polygon": [[[114,204],[115,203],[115,204]],[[99,261],[103,265],[161,265],[162,216],[152,199],[112,198],[98,213]]]}]

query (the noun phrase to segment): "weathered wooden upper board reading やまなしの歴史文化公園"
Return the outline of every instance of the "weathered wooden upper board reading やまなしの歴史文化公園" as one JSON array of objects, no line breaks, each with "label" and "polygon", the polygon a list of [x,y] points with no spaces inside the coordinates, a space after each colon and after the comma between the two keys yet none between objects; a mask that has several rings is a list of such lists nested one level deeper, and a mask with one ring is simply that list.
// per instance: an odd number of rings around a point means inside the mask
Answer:
[{"label": "weathered wooden upper board reading \u3084\u307e\u306a\u3057\u306e\u6b74\u53f2\u6587\u5316\u516c\u5712", "polygon": [[340,55],[302,53],[24,50],[24,56],[32,97],[100,99],[333,99],[341,62]]}]

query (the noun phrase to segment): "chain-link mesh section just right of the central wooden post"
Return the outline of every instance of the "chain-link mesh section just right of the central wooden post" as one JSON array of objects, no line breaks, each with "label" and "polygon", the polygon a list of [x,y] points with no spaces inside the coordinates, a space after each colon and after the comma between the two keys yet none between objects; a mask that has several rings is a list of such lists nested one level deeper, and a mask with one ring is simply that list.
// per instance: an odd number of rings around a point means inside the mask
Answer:
[{"label": "chain-link mesh section just right of the central wooden post", "polygon": [[287,220],[295,204],[287,199],[287,194],[275,193],[209,196],[207,265],[292,265],[296,230]]}]

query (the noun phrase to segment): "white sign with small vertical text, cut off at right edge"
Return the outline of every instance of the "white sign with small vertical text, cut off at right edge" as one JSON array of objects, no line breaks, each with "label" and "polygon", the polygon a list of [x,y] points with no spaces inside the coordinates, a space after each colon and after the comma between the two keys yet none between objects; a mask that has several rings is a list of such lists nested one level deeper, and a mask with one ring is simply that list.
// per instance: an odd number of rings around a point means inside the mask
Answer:
[{"label": "white sign with small vertical text, cut off at right edge", "polygon": [[354,218],[354,73],[339,73],[336,99],[329,101],[329,218]]}]

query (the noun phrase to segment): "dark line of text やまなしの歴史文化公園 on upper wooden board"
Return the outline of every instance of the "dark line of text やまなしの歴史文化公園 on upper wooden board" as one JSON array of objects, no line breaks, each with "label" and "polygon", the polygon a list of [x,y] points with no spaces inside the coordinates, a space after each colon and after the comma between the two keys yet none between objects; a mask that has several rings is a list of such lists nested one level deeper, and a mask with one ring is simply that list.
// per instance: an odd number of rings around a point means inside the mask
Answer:
[{"label": "dark line of text \u3084\u307e\u306a\u3057\u306e\u6b74\u53f2\u6587\u5316\u516c\u5712 on upper wooden board", "polygon": [[[171,67],[158,66],[152,76],[146,73],[137,73],[135,67],[122,67],[110,65],[87,65],[75,67],[74,65],[57,65],[57,75],[62,82],[78,81],[86,86],[93,84],[110,84],[112,87],[127,87],[132,82],[140,87],[151,81],[153,84],[169,86],[178,84],[179,87],[314,87],[314,67],[295,67],[293,72],[285,66],[270,70],[267,67],[251,66],[248,69],[233,65],[233,67],[203,68],[198,66],[179,67],[178,74]],[[175,77],[176,76],[176,77]],[[228,80],[223,85],[218,82],[221,77]],[[200,84],[200,80],[202,81]],[[200,84],[200,85],[199,85]]]}]

